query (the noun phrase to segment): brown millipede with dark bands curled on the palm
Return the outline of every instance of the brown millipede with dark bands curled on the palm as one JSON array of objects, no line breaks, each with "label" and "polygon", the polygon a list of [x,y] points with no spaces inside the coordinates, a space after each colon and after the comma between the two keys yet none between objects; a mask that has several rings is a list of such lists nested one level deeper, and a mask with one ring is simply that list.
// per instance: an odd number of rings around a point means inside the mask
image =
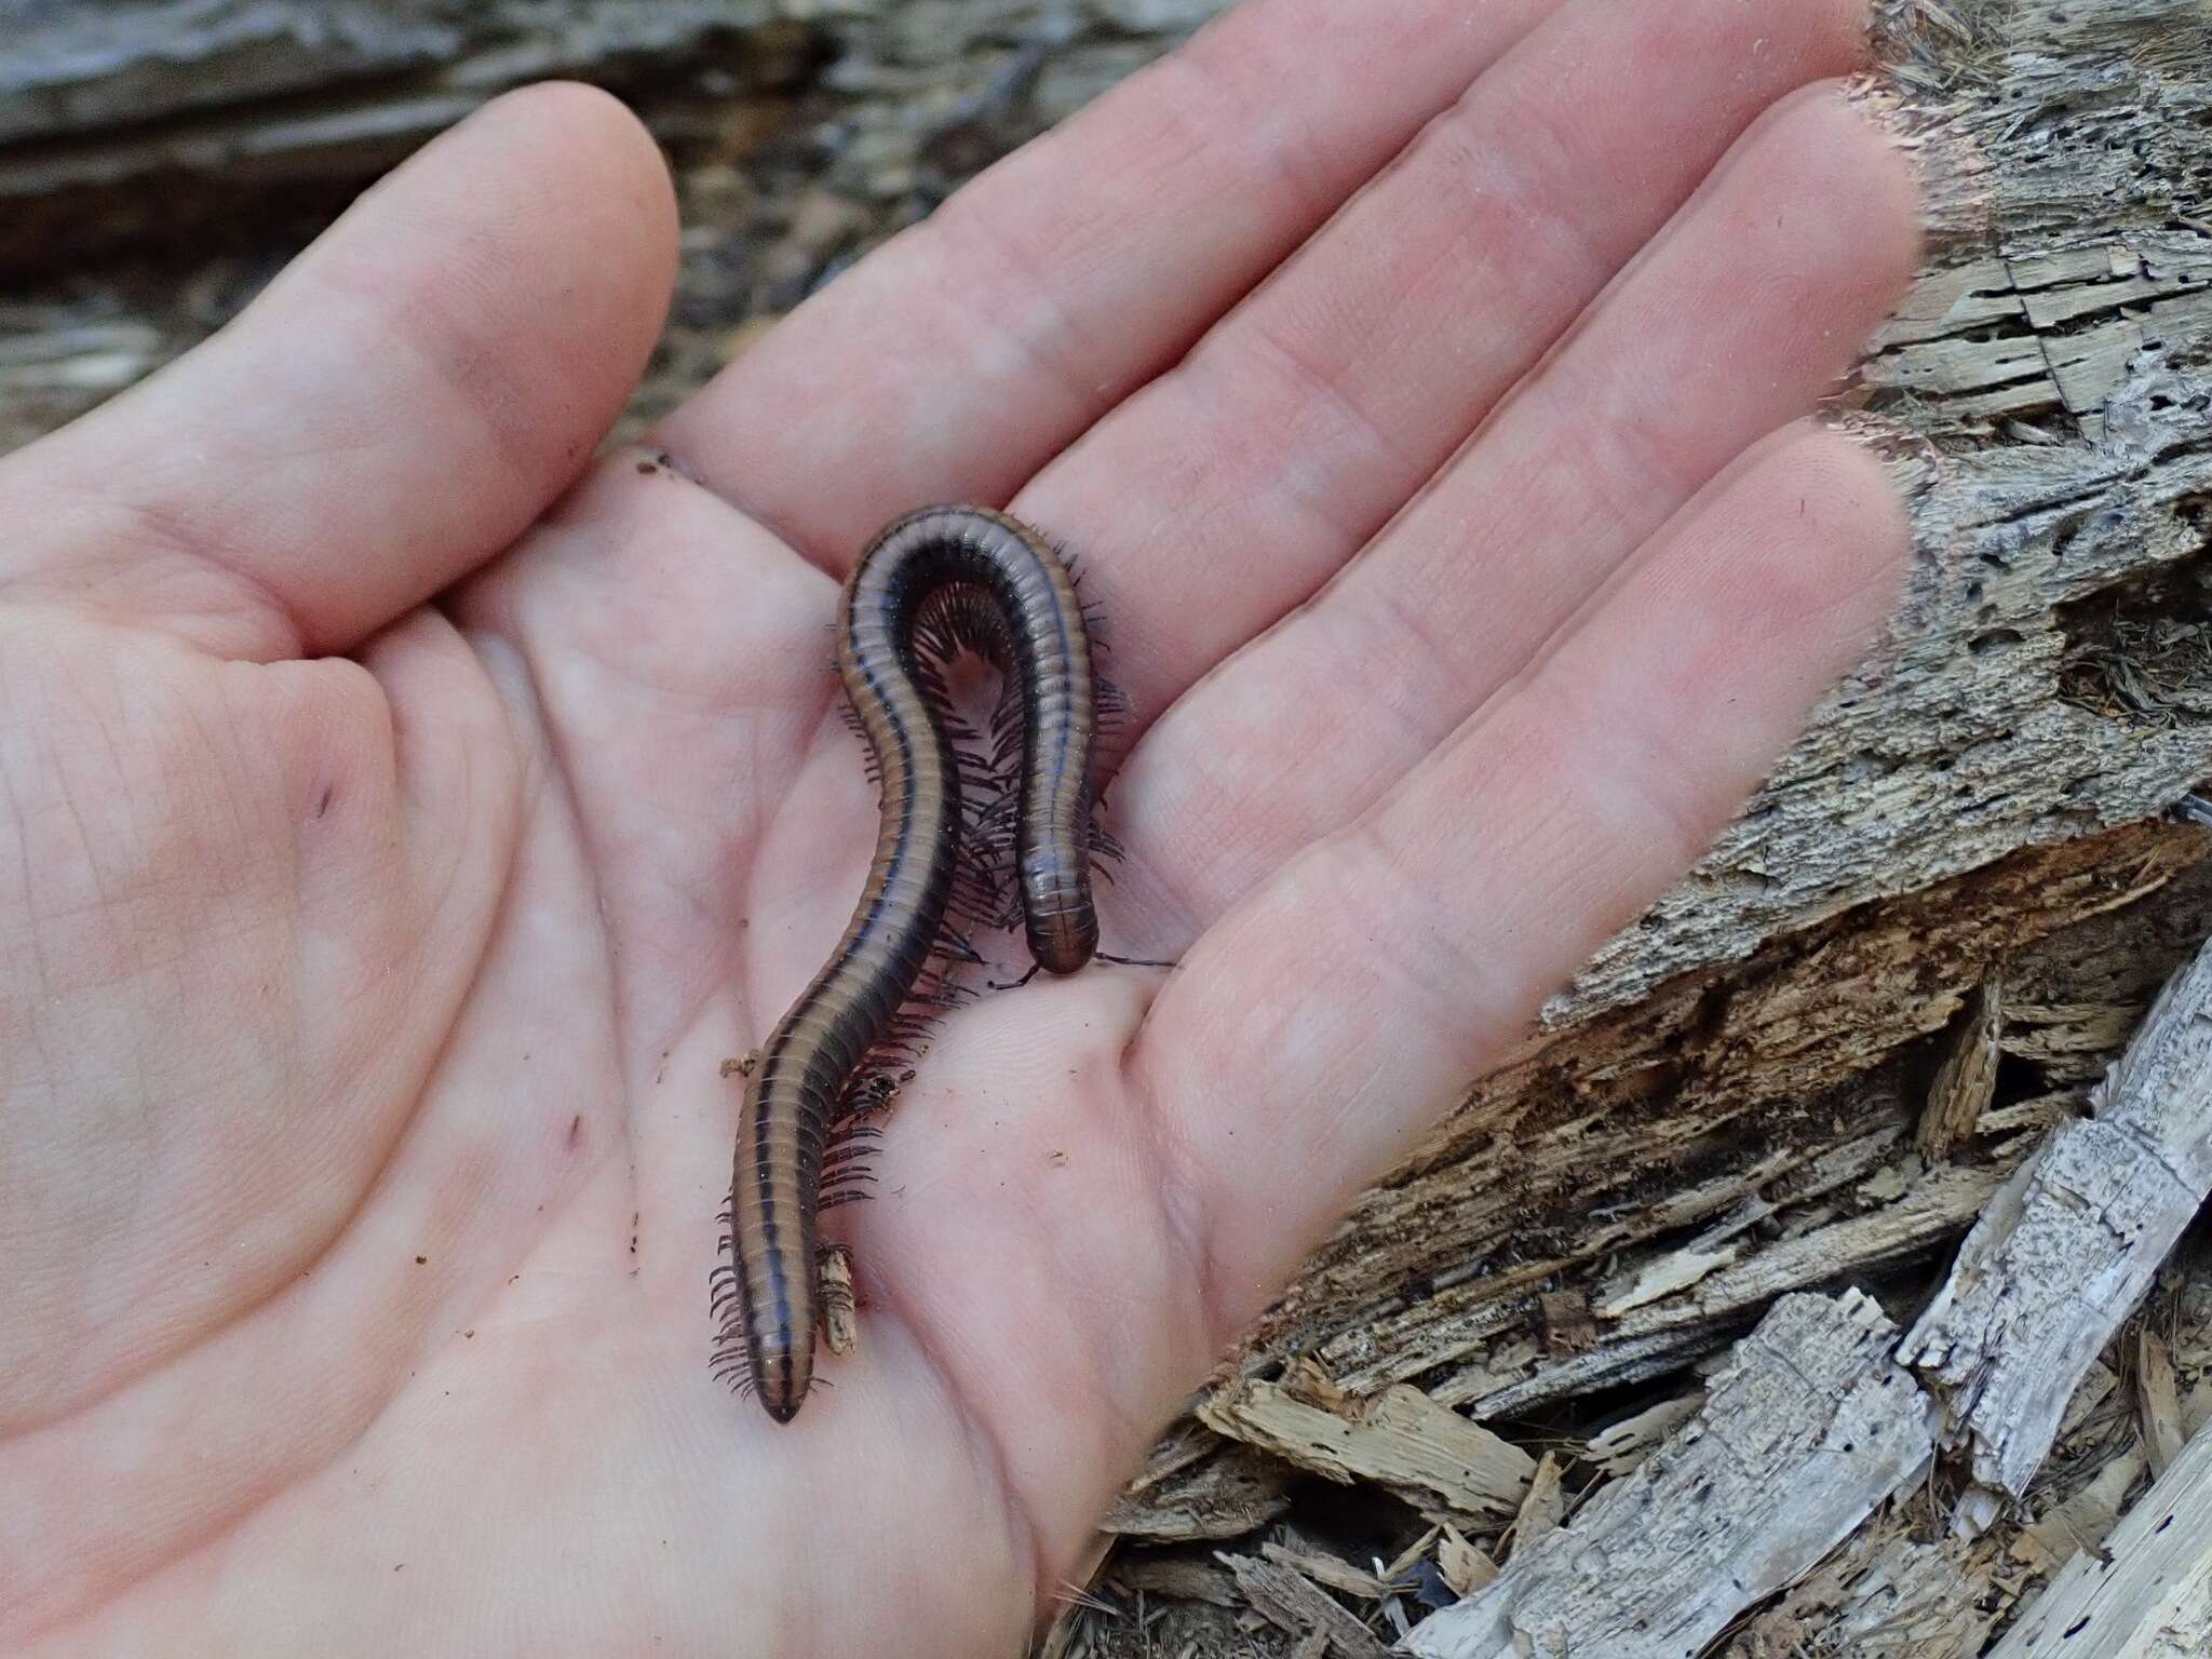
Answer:
[{"label": "brown millipede with dark bands curled on the palm", "polygon": [[[1020,748],[1000,803],[967,816],[938,677],[938,661],[960,648],[1004,675],[1000,730]],[[717,1369],[741,1376],[776,1422],[796,1416],[814,1378],[818,1210],[854,1194],[854,1117],[889,1084],[872,1060],[918,1031],[907,1009],[931,958],[956,942],[947,918],[964,872],[993,869],[1011,849],[1042,969],[1073,973],[1097,949],[1091,856],[1104,838],[1091,823],[1091,768],[1102,688],[1088,617],[1051,542],[980,507],[896,520],[845,584],[838,677],[883,785],[876,858],[845,938],[748,1077],[728,1259],[714,1272]]]}]

